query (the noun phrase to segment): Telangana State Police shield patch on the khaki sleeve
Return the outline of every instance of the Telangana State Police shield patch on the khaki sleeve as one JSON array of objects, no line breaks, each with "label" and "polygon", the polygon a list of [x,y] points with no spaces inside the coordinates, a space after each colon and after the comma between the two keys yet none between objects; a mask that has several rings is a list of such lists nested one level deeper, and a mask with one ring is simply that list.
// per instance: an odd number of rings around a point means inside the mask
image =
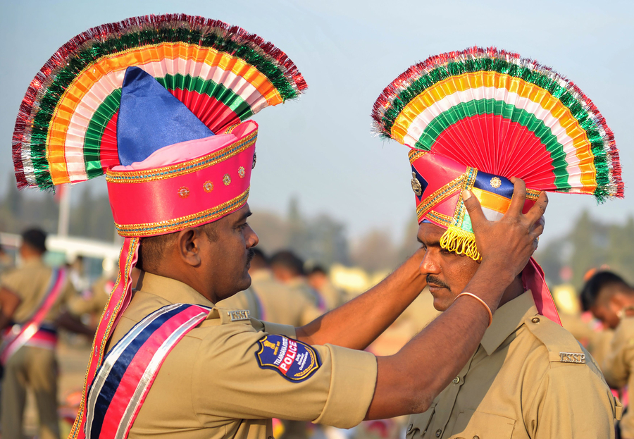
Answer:
[{"label": "Telangana State Police shield patch on the khaki sleeve", "polygon": [[288,381],[304,381],[321,367],[317,351],[284,335],[268,334],[258,340],[256,359],[262,369],[273,369]]}]

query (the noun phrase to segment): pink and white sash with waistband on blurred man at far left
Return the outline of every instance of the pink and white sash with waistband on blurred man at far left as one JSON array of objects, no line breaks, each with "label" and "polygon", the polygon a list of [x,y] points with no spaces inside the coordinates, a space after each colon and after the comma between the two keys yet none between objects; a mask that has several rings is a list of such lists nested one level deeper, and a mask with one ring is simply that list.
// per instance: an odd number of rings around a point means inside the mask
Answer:
[{"label": "pink and white sash with waistband on blurred man at far left", "polygon": [[66,270],[55,268],[51,274],[51,280],[47,287],[42,303],[35,310],[33,316],[23,325],[13,325],[4,335],[2,345],[0,345],[0,363],[6,364],[11,355],[23,347],[30,345],[54,349],[57,342],[57,335],[52,330],[42,328],[42,321],[46,314],[49,314],[51,307],[57,301],[64,285],[66,285]]}]

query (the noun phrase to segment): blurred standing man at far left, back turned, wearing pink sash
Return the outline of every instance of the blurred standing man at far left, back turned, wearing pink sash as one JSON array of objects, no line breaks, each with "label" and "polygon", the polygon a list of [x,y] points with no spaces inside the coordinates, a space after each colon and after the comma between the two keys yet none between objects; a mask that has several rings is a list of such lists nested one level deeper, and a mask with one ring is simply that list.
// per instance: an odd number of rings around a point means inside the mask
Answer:
[{"label": "blurred standing man at far left, back turned, wearing pink sash", "polygon": [[[59,438],[57,416],[58,367],[55,354],[57,328],[89,337],[94,331],[63,309],[76,295],[65,269],[44,264],[46,234],[37,228],[22,233],[21,266],[0,278],[0,296],[19,297],[20,304],[8,316],[0,361],[4,364],[1,395],[2,437],[23,438],[27,388],[35,395],[39,438]],[[66,316],[66,317],[64,317]]]}]

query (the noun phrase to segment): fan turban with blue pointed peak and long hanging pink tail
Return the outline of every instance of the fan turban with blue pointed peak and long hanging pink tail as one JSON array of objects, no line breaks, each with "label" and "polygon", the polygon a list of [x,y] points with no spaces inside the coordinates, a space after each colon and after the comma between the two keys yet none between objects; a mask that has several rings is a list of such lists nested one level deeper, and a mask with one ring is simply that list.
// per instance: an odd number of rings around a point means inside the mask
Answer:
[{"label": "fan turban with blue pointed peak and long hanging pink tail", "polygon": [[[13,133],[18,187],[106,174],[119,276],[101,316],[84,388],[131,299],[139,239],[216,221],[244,206],[266,106],[306,89],[277,47],[240,27],[144,16],[77,35],[44,64]],[[71,438],[84,437],[80,407]]]}]

